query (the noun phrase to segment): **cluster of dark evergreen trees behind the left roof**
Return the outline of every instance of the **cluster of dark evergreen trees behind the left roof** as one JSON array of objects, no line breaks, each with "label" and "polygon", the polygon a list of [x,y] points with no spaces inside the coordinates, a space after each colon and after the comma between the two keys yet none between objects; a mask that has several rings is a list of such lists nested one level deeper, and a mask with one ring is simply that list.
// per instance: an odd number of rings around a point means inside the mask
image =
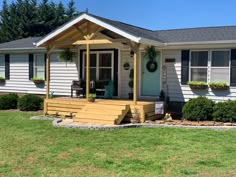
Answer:
[{"label": "cluster of dark evergreen trees behind the left roof", "polygon": [[10,5],[3,0],[0,11],[0,42],[29,36],[43,36],[77,15],[75,3],[68,8],[48,0],[15,0]]}]

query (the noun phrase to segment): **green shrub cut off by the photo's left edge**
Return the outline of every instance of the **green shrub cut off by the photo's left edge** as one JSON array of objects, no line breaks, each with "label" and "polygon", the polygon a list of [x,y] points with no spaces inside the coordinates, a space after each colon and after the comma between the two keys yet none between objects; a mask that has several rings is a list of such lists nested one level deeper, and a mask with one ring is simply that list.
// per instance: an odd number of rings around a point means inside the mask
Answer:
[{"label": "green shrub cut off by the photo's left edge", "polygon": [[18,95],[10,93],[0,96],[0,110],[16,109],[17,108]]}]

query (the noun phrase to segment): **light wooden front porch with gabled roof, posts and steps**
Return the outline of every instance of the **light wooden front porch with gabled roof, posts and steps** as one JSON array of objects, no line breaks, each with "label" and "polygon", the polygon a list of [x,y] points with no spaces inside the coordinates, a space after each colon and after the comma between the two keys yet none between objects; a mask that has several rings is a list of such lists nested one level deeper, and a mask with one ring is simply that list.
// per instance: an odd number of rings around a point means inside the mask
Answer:
[{"label": "light wooden front porch with gabled roof, posts and steps", "polygon": [[[148,36],[137,37],[137,35],[131,35],[129,32],[124,32],[123,29],[113,26],[113,24],[104,22],[104,19],[82,14],[43,38],[37,43],[37,46],[47,48],[44,113],[71,116],[74,121],[80,123],[109,125],[120,124],[125,120],[129,121],[129,118],[133,117],[134,113],[139,114],[141,123],[146,119],[156,118],[155,102],[138,100],[139,95],[141,95],[141,88],[144,88],[143,91],[145,91],[142,95],[151,95],[155,98],[154,100],[159,96],[161,88],[160,57],[157,59],[155,72],[145,72],[146,69],[142,69],[146,68],[147,62],[147,60],[145,62],[141,60],[144,48],[150,45],[160,45],[160,42],[146,37]],[[49,99],[51,84],[50,53],[54,49],[65,48],[74,49],[80,53],[78,54],[78,79],[85,81],[86,99]],[[96,48],[100,48],[100,51]],[[112,48],[113,50],[111,50]],[[121,50],[126,52],[121,53]],[[128,58],[131,61],[129,73],[131,73],[132,77],[128,75],[128,70],[123,70],[122,62],[129,61],[122,60],[124,59],[124,53],[129,54]],[[157,66],[159,66],[159,69],[157,69]],[[92,93],[90,81],[95,79],[114,82],[114,95],[112,98],[119,98],[121,94],[118,92],[125,93],[124,91],[129,90],[129,86],[132,90],[133,100],[97,99],[94,103],[90,103],[89,96]],[[123,87],[123,90],[121,87]],[[153,92],[150,92],[150,90]]]}]

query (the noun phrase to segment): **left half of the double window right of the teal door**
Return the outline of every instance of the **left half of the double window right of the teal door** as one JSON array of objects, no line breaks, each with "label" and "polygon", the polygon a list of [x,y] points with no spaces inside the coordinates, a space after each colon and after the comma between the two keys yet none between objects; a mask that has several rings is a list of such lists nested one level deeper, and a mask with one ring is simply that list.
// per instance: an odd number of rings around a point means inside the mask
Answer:
[{"label": "left half of the double window right of the teal door", "polygon": [[192,81],[207,82],[208,51],[192,51],[190,78]]}]

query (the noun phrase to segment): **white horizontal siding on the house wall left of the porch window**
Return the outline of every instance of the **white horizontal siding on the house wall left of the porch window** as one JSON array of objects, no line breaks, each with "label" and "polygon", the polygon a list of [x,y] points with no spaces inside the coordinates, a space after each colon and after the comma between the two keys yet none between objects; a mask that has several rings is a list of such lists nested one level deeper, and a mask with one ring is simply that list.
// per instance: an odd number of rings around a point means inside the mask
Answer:
[{"label": "white horizontal siding on the house wall left of the porch window", "polygon": [[[51,55],[50,91],[55,95],[70,95],[72,80],[78,79],[75,62],[60,62]],[[29,80],[28,54],[10,54],[10,80],[0,85],[0,92],[45,94],[46,87],[38,87]]]}]

